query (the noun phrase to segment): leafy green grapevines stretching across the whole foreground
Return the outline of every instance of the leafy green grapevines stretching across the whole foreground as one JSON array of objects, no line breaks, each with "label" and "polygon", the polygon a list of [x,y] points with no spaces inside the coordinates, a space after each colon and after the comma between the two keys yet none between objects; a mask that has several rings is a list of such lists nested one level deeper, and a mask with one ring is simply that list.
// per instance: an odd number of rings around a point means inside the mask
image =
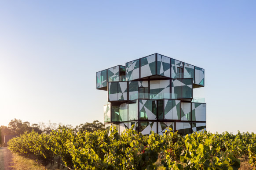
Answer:
[{"label": "leafy green grapevines stretching across the whole foreground", "polygon": [[[132,127],[133,128],[133,127]],[[237,170],[240,159],[256,168],[256,134],[212,134],[204,131],[180,136],[172,131],[142,135],[115,127],[105,131],[74,132],[59,128],[51,134],[25,132],[8,142],[13,152],[33,154],[45,161],[59,156],[75,170],[154,170],[157,160],[170,170]]]}]

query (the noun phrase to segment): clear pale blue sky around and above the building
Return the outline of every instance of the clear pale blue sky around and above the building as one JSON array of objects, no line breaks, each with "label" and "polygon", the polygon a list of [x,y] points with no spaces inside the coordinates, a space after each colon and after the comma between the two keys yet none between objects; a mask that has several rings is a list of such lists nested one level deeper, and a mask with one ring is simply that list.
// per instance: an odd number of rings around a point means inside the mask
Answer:
[{"label": "clear pale blue sky around and above the building", "polygon": [[207,130],[256,132],[255,0],[0,1],[0,125],[103,121],[96,72],[161,53],[205,68]]}]

